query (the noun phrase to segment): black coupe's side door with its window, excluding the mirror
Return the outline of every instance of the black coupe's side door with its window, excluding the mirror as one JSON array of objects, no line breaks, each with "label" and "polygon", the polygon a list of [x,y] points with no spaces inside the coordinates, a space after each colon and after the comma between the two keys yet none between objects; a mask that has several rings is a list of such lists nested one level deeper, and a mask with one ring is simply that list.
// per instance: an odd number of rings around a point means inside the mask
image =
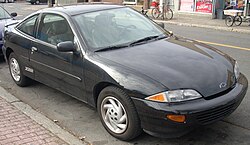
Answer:
[{"label": "black coupe's side door with its window, excluding the mirror", "polygon": [[83,59],[78,45],[74,53],[59,52],[56,47],[60,42],[76,41],[67,20],[58,14],[43,14],[36,38],[30,51],[35,79],[85,101]]}]

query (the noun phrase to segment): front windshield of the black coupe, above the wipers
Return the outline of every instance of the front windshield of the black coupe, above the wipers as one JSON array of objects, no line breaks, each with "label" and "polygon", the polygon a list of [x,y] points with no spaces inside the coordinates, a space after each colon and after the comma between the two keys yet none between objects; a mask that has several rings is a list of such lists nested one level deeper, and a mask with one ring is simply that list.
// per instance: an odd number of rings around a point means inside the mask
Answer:
[{"label": "front windshield of the black coupe, above the wipers", "polygon": [[130,8],[95,11],[76,15],[74,19],[93,51],[168,36],[167,31]]}]

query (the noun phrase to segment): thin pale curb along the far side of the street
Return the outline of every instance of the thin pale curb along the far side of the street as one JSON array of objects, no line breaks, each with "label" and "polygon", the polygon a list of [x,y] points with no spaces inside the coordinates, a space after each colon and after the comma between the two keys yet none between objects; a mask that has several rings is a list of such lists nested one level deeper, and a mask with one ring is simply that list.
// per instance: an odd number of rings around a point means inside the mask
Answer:
[{"label": "thin pale curb along the far side of the street", "polygon": [[187,27],[199,27],[199,28],[208,28],[215,30],[222,30],[228,32],[239,32],[239,33],[247,33],[250,34],[250,30],[245,29],[234,29],[233,27],[221,27],[221,26],[208,26],[208,25],[199,25],[199,24],[190,24],[190,23],[180,23],[180,22],[171,22],[171,21],[163,21],[163,20],[154,20],[155,22],[162,22],[166,24],[179,25],[179,26],[187,26]]}]

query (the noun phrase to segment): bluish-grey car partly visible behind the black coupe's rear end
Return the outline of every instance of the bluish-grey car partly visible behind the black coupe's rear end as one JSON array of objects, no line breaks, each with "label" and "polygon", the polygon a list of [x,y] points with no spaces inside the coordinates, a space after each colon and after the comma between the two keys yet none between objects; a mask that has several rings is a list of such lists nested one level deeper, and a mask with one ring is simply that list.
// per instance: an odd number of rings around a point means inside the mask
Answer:
[{"label": "bluish-grey car partly visible behind the black coupe's rear end", "polygon": [[12,22],[16,22],[14,17],[17,16],[17,13],[9,14],[2,6],[0,6],[0,56],[3,55],[2,53],[2,46],[3,46],[3,30],[4,25]]}]

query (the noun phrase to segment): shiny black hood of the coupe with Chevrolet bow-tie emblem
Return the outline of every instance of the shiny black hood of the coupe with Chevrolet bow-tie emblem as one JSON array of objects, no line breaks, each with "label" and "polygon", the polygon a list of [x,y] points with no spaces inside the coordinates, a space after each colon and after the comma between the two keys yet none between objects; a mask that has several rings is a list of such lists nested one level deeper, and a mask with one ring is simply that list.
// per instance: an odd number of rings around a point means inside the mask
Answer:
[{"label": "shiny black hood of the coupe with Chevrolet bow-tie emblem", "polygon": [[129,67],[151,77],[167,90],[190,88],[208,97],[235,83],[232,58],[208,45],[180,37],[98,55],[119,63],[123,69]]}]

